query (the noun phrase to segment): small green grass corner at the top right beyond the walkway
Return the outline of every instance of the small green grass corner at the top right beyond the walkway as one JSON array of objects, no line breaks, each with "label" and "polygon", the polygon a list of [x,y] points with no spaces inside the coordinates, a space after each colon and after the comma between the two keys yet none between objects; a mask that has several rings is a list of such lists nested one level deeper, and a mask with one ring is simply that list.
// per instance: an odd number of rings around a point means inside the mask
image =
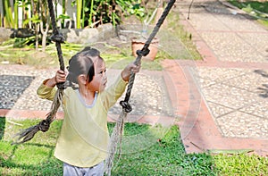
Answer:
[{"label": "small green grass corner at the top right beyond the walkway", "polygon": [[245,11],[250,16],[254,17],[257,21],[268,28],[268,2],[259,1],[238,1],[229,0],[230,4],[233,4],[239,9]]}]

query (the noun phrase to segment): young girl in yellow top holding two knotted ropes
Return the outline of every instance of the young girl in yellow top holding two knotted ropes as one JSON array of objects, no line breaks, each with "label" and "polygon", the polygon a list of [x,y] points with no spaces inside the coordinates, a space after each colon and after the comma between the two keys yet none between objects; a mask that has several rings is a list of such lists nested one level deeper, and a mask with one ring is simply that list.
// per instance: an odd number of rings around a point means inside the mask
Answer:
[{"label": "young girl in yellow top holding two knotted ropes", "polygon": [[[64,120],[54,156],[63,161],[63,175],[104,175],[109,133],[107,112],[124,92],[130,73],[140,65],[130,63],[109,88],[105,61],[99,51],[85,48],[71,57],[69,72],[56,71],[44,80],[38,96],[53,100],[57,83],[68,83],[64,90]],[[66,77],[67,76],[67,77]]]}]

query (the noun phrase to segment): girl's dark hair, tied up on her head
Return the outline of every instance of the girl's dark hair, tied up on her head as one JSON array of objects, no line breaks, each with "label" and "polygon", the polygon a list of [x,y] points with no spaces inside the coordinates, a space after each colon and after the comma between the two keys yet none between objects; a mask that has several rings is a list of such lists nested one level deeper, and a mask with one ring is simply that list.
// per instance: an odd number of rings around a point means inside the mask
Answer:
[{"label": "girl's dark hair, tied up on her head", "polygon": [[71,57],[69,61],[69,74],[67,76],[67,80],[72,88],[74,88],[73,83],[78,84],[78,76],[80,74],[87,75],[88,83],[93,80],[95,69],[92,57],[96,56],[103,60],[97,49],[87,46],[82,51]]}]

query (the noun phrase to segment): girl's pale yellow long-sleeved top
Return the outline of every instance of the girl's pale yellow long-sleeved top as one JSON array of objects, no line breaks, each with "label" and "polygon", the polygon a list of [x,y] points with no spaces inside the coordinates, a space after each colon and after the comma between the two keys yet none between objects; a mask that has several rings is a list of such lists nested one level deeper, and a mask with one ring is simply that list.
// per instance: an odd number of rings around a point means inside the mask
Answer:
[{"label": "girl's pale yellow long-sleeved top", "polygon": [[[92,105],[85,105],[80,93],[72,88],[64,90],[63,127],[54,150],[59,160],[78,167],[91,167],[105,160],[108,154],[109,133],[107,112],[122,95],[127,82],[118,78],[105,91],[96,93]],[[38,96],[53,100],[56,88],[43,83]]]}]

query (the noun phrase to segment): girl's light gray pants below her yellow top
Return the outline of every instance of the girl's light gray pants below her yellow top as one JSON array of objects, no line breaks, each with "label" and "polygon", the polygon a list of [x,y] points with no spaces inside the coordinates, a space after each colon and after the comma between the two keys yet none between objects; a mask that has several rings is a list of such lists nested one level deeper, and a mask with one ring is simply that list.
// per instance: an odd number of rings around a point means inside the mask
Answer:
[{"label": "girl's light gray pants below her yellow top", "polygon": [[76,167],[68,163],[63,163],[63,176],[103,176],[104,162],[92,167]]}]

